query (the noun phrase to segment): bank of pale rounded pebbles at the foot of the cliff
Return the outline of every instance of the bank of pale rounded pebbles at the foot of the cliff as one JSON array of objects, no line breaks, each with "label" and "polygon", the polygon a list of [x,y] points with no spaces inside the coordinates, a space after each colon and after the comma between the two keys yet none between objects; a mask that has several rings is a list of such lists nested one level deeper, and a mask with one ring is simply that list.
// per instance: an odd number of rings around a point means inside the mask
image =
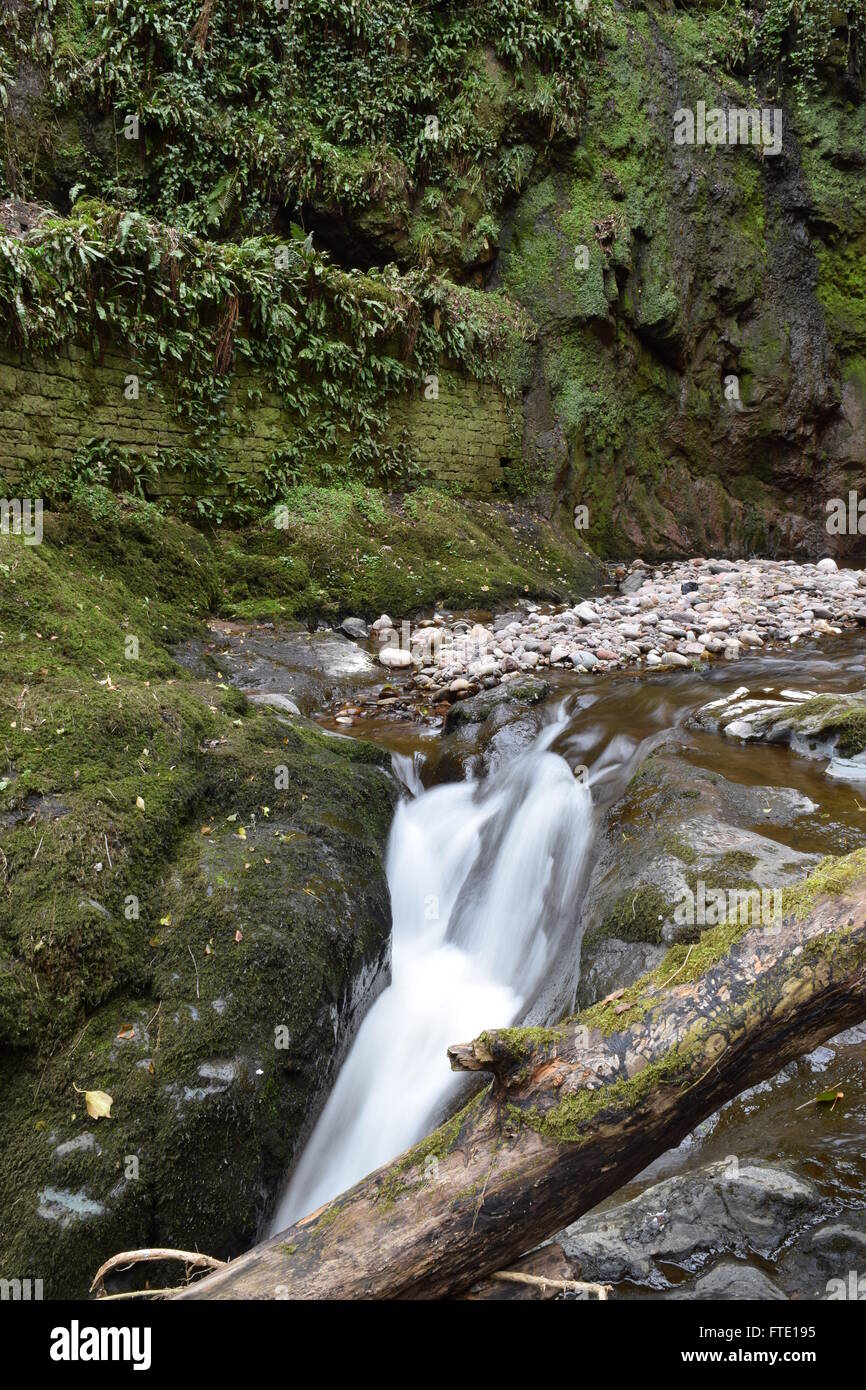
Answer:
[{"label": "bank of pale rounded pebbles at the foot of the cliff", "polygon": [[[621,573],[621,571],[620,571]],[[866,570],[792,560],[694,560],[651,569],[635,560],[619,585],[560,613],[527,603],[487,623],[436,614],[414,624],[410,651],[382,613],[373,623],[379,662],[414,667],[421,688],[459,698],[520,671],[684,669],[737,662],[765,646],[796,644],[866,626]],[[357,620],[349,620],[352,626]],[[389,645],[392,644],[392,645]]]}]

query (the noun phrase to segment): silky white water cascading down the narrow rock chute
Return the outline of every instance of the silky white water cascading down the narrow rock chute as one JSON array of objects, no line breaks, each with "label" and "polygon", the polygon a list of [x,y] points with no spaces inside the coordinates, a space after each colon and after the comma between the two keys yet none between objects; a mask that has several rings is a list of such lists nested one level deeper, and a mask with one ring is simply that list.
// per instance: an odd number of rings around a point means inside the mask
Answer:
[{"label": "silky white water cascading down the narrow rock chute", "polygon": [[557,958],[573,969],[592,802],[549,751],[563,727],[549,724],[485,783],[420,791],[398,808],[392,983],[359,1029],[272,1232],[421,1138],[453,1098],[449,1042],[532,1016]]}]

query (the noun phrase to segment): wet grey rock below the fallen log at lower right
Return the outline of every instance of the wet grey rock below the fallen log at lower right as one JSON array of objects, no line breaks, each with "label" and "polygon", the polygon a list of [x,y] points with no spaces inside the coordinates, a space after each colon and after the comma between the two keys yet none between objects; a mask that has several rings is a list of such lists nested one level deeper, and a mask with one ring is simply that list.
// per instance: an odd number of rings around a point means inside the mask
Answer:
[{"label": "wet grey rock below the fallen log at lower right", "polygon": [[582,1216],[559,1243],[582,1279],[664,1287],[663,1265],[698,1270],[719,1251],[769,1259],[820,1212],[808,1179],[774,1163],[749,1159],[733,1169],[723,1159]]}]

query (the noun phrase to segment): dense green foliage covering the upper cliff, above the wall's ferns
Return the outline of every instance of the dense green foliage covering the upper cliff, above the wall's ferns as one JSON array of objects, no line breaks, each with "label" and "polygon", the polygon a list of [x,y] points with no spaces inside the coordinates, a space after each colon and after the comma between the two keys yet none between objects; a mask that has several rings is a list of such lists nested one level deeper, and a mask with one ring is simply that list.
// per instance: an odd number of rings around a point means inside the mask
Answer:
[{"label": "dense green foliage covering the upper cliff, above the wall's ferns", "polygon": [[[484,259],[537,140],[574,136],[605,6],[553,0],[38,0],[3,67],[39,54],[54,111],[95,103],[89,193],[188,231],[263,231],[274,202],[407,213],[420,260]],[[250,113],[253,117],[250,118]],[[138,115],[138,139],[124,138]],[[431,115],[435,125],[431,125]],[[43,152],[44,157],[44,152]],[[39,179],[17,161],[18,179]],[[18,189],[21,192],[21,188]],[[424,232],[427,228],[427,232]],[[371,231],[370,222],[367,232]]]}]

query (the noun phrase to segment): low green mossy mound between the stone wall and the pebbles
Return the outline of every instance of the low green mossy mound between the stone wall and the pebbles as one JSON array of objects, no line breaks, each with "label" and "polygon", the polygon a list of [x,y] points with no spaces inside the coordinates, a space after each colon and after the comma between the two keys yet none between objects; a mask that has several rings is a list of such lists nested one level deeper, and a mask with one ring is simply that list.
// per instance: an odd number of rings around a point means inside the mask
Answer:
[{"label": "low green mossy mound between the stone wall and the pebbles", "polygon": [[222,612],[240,617],[378,617],[434,605],[493,607],[517,595],[564,600],[598,584],[573,537],[525,507],[432,488],[411,509],[368,488],[297,488],[286,525],[218,542]]}]

